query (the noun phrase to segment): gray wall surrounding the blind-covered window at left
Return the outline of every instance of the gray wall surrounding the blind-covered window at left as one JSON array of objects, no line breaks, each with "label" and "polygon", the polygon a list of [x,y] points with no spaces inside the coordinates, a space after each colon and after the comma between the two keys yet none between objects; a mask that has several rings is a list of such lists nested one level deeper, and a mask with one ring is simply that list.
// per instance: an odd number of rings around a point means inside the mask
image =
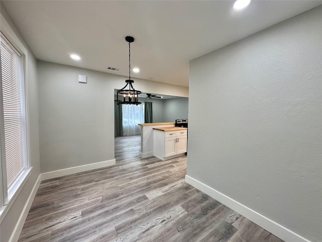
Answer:
[{"label": "gray wall surrounding the blind-covered window at left", "polygon": [[9,238],[18,222],[21,212],[25,206],[25,203],[36,183],[36,180],[40,173],[39,164],[39,129],[38,129],[38,79],[37,79],[37,63],[36,59],[29,49],[28,45],[22,38],[17,27],[9,17],[3,3],[1,3],[1,14],[4,16],[6,21],[9,23],[11,28],[15,31],[20,41],[24,44],[28,51],[27,59],[27,90],[28,90],[28,102],[29,102],[29,134],[30,134],[30,157],[32,171],[31,175],[27,180],[27,183],[23,187],[23,190],[18,195],[14,204],[6,214],[4,220],[1,222],[0,241],[9,241]]}]

